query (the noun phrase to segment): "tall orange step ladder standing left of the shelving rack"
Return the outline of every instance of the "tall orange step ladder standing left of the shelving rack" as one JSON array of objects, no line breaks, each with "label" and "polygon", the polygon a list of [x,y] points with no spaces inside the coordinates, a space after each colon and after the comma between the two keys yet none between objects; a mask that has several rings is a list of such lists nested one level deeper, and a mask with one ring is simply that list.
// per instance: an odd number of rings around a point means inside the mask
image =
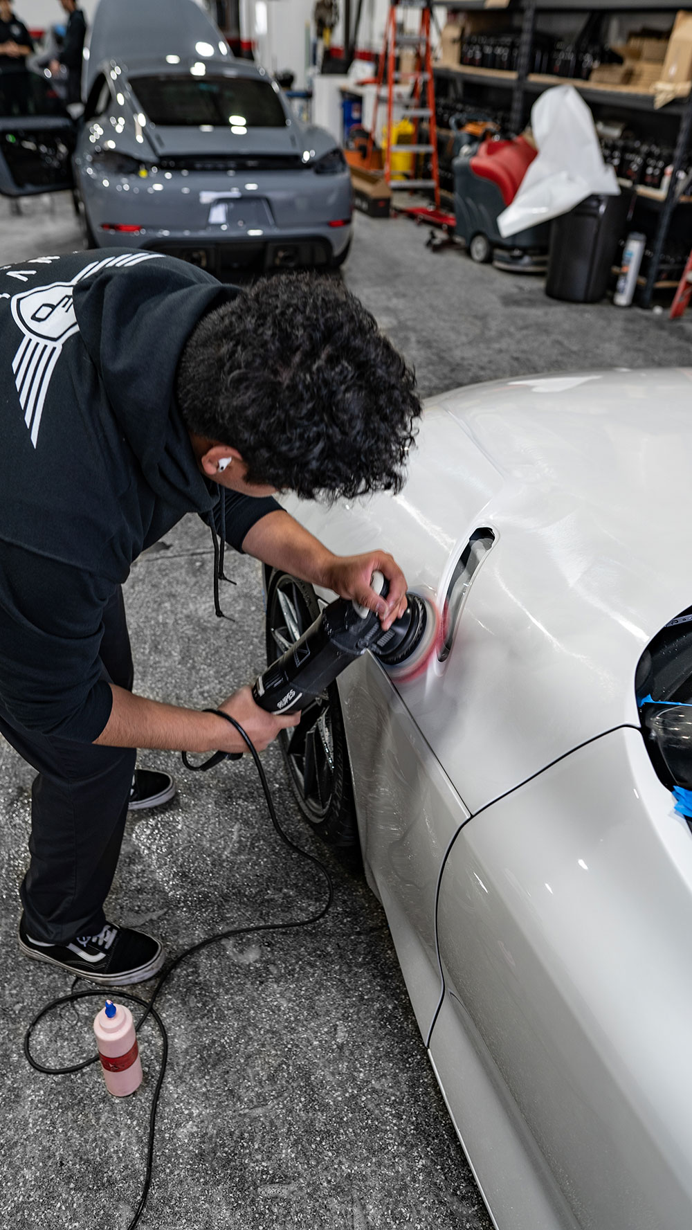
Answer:
[{"label": "tall orange step ladder standing left of the shelving rack", "polygon": [[[420,20],[418,33],[406,33],[399,31],[397,27],[397,16],[403,9],[417,9],[420,10]],[[385,46],[382,49],[382,55],[380,57],[380,66],[377,69],[377,90],[375,93],[375,108],[372,111],[372,127],[370,130],[370,138],[368,140],[368,154],[366,165],[370,166],[370,159],[372,156],[372,148],[375,145],[375,137],[377,133],[377,111],[379,103],[386,100],[387,103],[387,125],[385,130],[385,178],[387,183],[392,183],[392,154],[407,153],[407,154],[429,154],[430,155],[430,178],[428,180],[398,180],[395,178],[393,183],[406,192],[408,191],[420,191],[420,192],[433,192],[435,197],[435,207],[440,205],[440,169],[438,162],[438,130],[435,124],[435,82],[433,80],[433,54],[430,48],[430,18],[431,18],[431,5],[429,0],[422,0],[420,4],[412,2],[408,0],[407,4],[399,4],[398,0],[390,0],[390,11],[387,14],[387,25],[385,30]],[[411,49],[414,52],[414,68],[409,73],[403,73],[397,68],[397,58],[399,52],[403,49]],[[386,73],[386,81],[385,81]],[[411,144],[397,144],[392,141],[393,133],[393,108],[395,108],[395,85],[409,82],[412,87],[411,96],[406,100],[398,100],[403,109],[403,116],[406,119],[413,121],[414,133],[413,141]],[[418,129],[422,119],[428,123],[428,141],[419,141]]]}]

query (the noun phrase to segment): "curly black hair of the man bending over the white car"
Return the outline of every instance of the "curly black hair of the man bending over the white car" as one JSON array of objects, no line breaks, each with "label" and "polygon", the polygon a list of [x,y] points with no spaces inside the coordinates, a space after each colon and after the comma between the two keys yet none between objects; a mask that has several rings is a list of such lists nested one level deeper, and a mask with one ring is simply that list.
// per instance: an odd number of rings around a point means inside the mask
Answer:
[{"label": "curly black hair of the man bending over the white car", "polygon": [[188,430],[238,450],[247,481],[304,499],[399,491],[415,375],[340,282],[281,274],[195,326],[176,378]]}]

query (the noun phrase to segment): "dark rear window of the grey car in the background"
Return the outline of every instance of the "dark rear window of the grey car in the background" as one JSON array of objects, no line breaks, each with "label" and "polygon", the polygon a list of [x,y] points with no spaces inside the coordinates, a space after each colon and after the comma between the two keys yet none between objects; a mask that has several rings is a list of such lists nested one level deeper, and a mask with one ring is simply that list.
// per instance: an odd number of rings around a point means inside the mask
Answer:
[{"label": "dark rear window of the grey car in the background", "polygon": [[130,85],[151,123],[194,128],[229,124],[284,128],[286,117],[268,81],[248,77],[140,76]]}]

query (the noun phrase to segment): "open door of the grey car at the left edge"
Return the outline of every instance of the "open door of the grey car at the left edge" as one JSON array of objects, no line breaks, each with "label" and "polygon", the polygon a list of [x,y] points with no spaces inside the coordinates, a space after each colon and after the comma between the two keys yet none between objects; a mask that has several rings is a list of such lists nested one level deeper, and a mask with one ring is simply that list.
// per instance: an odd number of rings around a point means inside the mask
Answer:
[{"label": "open door of the grey car at the left edge", "polygon": [[0,79],[0,193],[28,197],[71,188],[75,122],[49,80],[37,73],[11,76],[17,80]]}]

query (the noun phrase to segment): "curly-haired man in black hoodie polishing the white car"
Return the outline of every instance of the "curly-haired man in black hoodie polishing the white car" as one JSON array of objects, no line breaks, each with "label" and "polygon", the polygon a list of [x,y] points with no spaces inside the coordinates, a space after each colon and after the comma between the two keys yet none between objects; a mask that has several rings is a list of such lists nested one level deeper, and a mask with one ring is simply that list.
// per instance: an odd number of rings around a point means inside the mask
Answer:
[{"label": "curly-haired man in black hoodie polishing the white car", "polygon": [[[0,732],[38,771],[20,947],[136,983],[161,968],[161,945],[107,922],[103,902],[128,806],[165,802],[175,785],[135,771],[134,749],[245,743],[219,712],[132,691],[130,565],[198,513],[388,627],[406,609],[392,557],[333,555],[273,493],[398,490],[420,403],[340,284],[288,276],[240,292],[143,251],[0,269]],[[220,710],[258,749],[299,720],[265,713],[248,688]]]}]

